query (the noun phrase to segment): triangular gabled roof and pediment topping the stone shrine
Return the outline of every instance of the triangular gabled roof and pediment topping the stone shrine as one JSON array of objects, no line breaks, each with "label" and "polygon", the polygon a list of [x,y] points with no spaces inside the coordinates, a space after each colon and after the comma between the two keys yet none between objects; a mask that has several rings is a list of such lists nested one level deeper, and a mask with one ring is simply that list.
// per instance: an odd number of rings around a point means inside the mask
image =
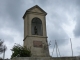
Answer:
[{"label": "triangular gabled roof and pediment topping the stone shrine", "polygon": [[26,10],[25,14],[23,15],[23,18],[25,18],[26,14],[29,14],[29,13],[40,13],[40,14],[47,15],[47,13],[43,9],[41,9],[38,5],[35,5],[30,9]]}]

